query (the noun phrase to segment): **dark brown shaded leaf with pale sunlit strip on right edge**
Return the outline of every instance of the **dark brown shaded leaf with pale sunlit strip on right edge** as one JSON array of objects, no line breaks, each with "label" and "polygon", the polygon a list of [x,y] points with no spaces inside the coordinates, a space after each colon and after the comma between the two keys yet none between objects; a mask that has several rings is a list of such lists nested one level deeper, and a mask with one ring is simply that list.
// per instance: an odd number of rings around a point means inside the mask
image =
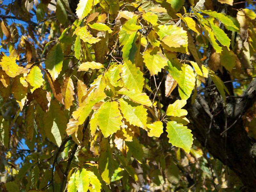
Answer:
[{"label": "dark brown shaded leaf with pale sunlit strip on right edge", "polygon": [[44,112],[46,112],[50,107],[50,102],[52,100],[51,93],[44,91],[41,88],[37,88],[33,92],[33,96],[37,103],[40,105],[40,107],[44,110]]}]

